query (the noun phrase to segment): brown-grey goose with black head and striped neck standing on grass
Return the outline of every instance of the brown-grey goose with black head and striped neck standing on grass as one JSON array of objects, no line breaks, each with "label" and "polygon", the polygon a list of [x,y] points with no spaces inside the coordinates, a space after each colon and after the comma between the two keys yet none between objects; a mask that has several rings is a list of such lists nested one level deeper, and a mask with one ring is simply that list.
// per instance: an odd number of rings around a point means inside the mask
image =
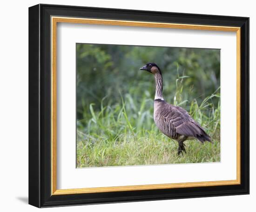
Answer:
[{"label": "brown-grey goose with black head and striped neck standing on grass", "polygon": [[186,153],[185,144],[187,139],[198,139],[202,143],[206,140],[211,142],[210,136],[198,124],[189,113],[182,107],[168,104],[162,96],[162,73],[155,63],[148,63],[140,70],[153,73],[155,76],[155,101],[154,120],[156,126],[171,139],[179,143],[178,155]]}]

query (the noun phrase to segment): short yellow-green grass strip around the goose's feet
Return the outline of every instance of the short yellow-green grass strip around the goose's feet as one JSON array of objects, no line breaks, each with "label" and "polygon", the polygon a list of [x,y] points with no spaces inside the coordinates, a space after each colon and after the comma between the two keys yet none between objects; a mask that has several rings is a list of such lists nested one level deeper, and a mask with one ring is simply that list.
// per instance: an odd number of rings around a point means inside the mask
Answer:
[{"label": "short yellow-green grass strip around the goose's feet", "polygon": [[[201,144],[188,141],[187,154],[177,155],[177,144],[162,134],[134,139],[120,136],[121,141],[96,140],[93,144],[78,142],[78,167],[132,166],[220,161],[220,142]],[[186,143],[186,142],[185,142]]]}]

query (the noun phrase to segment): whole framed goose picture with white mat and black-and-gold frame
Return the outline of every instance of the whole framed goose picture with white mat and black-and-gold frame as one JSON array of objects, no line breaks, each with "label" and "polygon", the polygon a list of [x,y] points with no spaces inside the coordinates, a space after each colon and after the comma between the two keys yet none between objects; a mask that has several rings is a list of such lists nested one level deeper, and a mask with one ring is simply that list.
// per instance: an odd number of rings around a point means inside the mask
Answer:
[{"label": "whole framed goose picture with white mat and black-and-gold frame", "polygon": [[249,18],[29,8],[29,204],[249,194]]}]

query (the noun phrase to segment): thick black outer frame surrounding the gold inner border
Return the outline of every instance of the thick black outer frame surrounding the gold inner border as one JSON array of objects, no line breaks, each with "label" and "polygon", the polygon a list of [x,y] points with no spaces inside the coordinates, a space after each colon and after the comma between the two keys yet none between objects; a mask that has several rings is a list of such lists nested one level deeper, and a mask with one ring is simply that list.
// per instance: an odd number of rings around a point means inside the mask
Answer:
[{"label": "thick black outer frame surrounding the gold inner border", "polygon": [[[51,196],[51,16],[241,27],[241,184]],[[29,198],[52,207],[249,194],[249,18],[39,4],[29,8]]]}]

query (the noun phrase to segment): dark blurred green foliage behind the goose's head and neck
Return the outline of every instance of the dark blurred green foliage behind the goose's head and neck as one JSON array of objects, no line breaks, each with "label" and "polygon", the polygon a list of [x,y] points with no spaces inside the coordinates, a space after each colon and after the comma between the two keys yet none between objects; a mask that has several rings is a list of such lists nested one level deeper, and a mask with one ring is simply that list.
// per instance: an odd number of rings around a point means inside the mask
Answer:
[{"label": "dark blurred green foliage behind the goose's head and neck", "polygon": [[[163,96],[174,103],[176,78],[183,80],[182,99],[199,104],[220,86],[220,50],[177,47],[77,44],[77,118],[89,105],[100,110],[101,99],[121,103],[120,93],[140,101],[155,94],[154,77],[139,68],[155,62],[162,70]],[[213,99],[214,104],[218,99]],[[87,109],[86,109],[87,108]]]}]

